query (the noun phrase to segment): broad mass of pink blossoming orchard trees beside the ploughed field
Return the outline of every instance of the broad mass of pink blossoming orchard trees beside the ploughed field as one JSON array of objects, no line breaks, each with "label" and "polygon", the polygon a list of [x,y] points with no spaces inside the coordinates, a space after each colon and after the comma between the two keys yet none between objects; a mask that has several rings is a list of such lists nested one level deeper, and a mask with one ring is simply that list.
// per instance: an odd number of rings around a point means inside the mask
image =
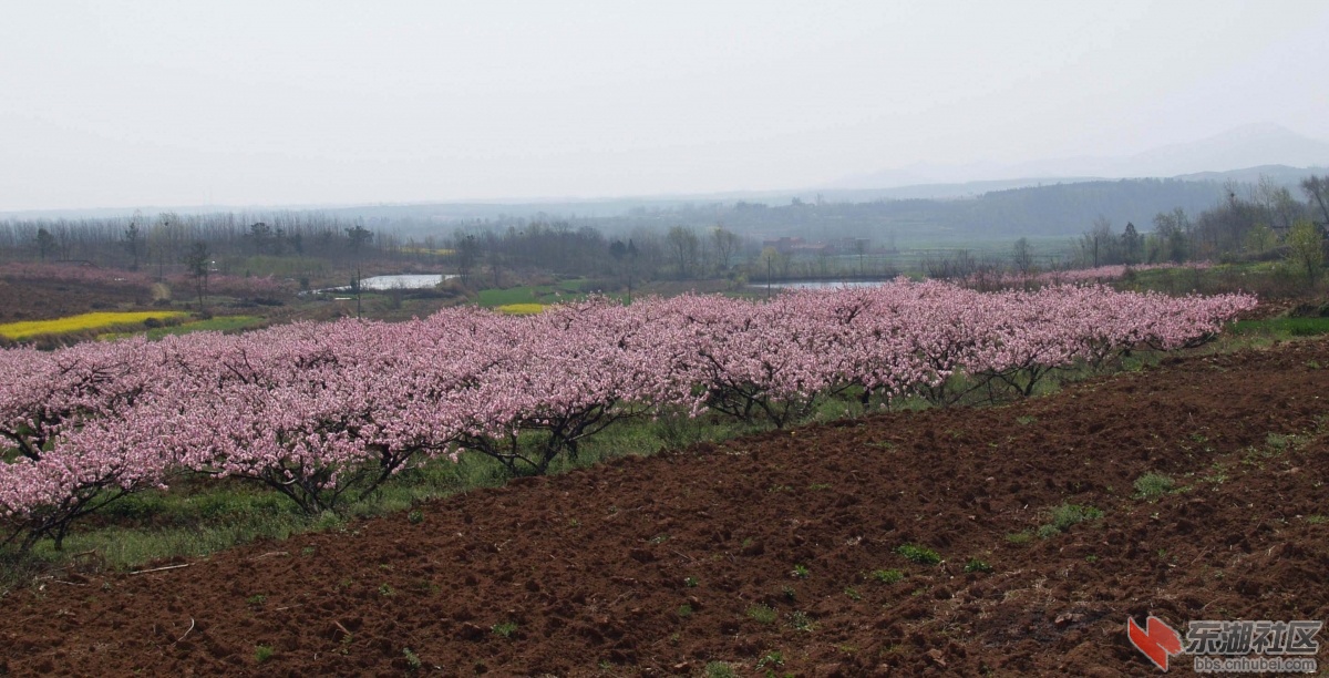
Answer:
[{"label": "broad mass of pink blossoming orchard trees beside the ploughed field", "polygon": [[[712,409],[784,425],[861,387],[934,396],[957,371],[1023,388],[1047,370],[1216,334],[1248,295],[942,282],[465,307],[404,323],[298,323],[53,352],[0,351],[0,520],[32,540],[174,473],[266,483],[308,510],[424,459],[489,453],[542,472],[627,416]],[[1027,391],[1026,391],[1027,392]]]}]

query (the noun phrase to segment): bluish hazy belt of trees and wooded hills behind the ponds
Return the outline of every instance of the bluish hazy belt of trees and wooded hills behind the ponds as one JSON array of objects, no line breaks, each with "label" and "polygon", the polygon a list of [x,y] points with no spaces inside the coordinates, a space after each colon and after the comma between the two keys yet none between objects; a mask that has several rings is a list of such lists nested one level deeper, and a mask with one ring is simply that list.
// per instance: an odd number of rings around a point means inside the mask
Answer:
[{"label": "bluish hazy belt of trees and wooded hills behind the ponds", "polygon": [[158,277],[202,274],[206,263],[222,274],[300,278],[306,270],[344,275],[364,265],[456,271],[486,287],[549,274],[633,287],[653,279],[892,275],[898,246],[929,249],[909,266],[954,278],[1022,270],[1035,259],[1053,265],[1046,251],[1035,258],[1029,241],[1014,253],[957,251],[975,238],[1066,235],[1083,266],[1271,255],[1288,245],[1298,221],[1329,219],[1325,181],[1309,177],[1289,189],[1268,178],[1256,185],[1122,179],[965,199],[679,203],[594,217],[457,219],[401,206],[365,207],[369,219],[348,209],[9,219],[0,221],[0,262],[89,262]]}]

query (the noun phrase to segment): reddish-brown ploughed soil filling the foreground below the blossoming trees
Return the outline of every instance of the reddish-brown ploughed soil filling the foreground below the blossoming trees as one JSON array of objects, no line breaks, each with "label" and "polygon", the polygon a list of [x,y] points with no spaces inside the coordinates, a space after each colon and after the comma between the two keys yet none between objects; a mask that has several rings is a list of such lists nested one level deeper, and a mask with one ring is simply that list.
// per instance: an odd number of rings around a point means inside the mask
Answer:
[{"label": "reddish-brown ploughed soil filling the foreground below the blossoming trees", "polygon": [[[700,675],[712,661],[740,675],[1152,675],[1128,616],[1329,617],[1326,368],[1325,342],[1170,359],[1013,407],[529,479],[423,507],[415,525],[61,576],[4,600],[0,667],[401,675],[409,649],[416,673],[440,675]],[[1147,472],[1184,491],[1134,497]],[[1007,538],[1063,503],[1106,516]],[[905,542],[945,561],[909,562]],[[966,573],[970,557],[993,572]],[[748,614],[759,604],[775,622]],[[758,670],[772,651],[783,666]]]}]

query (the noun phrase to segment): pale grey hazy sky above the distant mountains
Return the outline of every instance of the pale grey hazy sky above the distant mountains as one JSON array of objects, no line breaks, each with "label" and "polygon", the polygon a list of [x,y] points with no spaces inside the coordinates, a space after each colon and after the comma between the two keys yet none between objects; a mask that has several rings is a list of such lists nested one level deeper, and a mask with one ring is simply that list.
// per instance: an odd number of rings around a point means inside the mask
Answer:
[{"label": "pale grey hazy sky above the distant mountains", "polygon": [[1329,140],[1329,3],[0,0],[0,210],[809,186]]}]

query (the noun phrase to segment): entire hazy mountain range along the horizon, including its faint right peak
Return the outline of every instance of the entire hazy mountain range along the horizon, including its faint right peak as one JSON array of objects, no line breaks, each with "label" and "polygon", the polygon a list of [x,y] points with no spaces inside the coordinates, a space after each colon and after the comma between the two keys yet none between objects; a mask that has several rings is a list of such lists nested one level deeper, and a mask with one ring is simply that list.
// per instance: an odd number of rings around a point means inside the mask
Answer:
[{"label": "entire hazy mountain range along the horizon, including its faint right peak", "polygon": [[[146,215],[173,210],[181,214],[275,210],[314,210],[330,215],[383,222],[415,221],[420,227],[441,227],[459,221],[504,217],[567,218],[658,213],[680,206],[712,209],[754,202],[870,202],[978,198],[1014,189],[1070,186],[1122,178],[1175,178],[1188,182],[1255,183],[1261,175],[1294,187],[1309,174],[1329,174],[1329,142],[1304,137],[1272,124],[1245,125],[1188,144],[1174,144],[1115,158],[1061,158],[1001,165],[914,164],[905,168],[845,177],[821,186],[707,194],[625,195],[610,198],[514,198],[493,201],[413,202],[396,205],[274,205],[142,207]],[[1086,191],[1091,190],[1088,187]],[[1092,189],[1096,190],[1096,189]],[[1296,193],[1296,191],[1294,191]],[[1298,194],[1300,197],[1300,194]],[[1181,205],[1189,205],[1180,201]],[[133,214],[126,209],[84,209],[0,213],[0,219],[108,218]]]}]

